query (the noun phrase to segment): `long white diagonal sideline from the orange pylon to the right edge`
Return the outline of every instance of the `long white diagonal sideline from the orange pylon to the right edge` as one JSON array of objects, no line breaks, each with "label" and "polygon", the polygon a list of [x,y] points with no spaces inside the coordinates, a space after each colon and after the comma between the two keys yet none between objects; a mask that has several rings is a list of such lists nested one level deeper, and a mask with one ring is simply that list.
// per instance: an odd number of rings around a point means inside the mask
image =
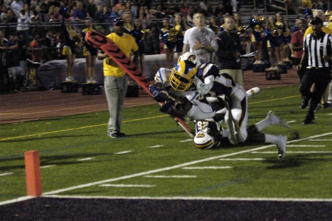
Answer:
[{"label": "long white diagonal sideline from the orange pylon to the right edge", "polygon": [[[301,142],[301,141],[304,141],[304,140],[309,140],[309,139],[324,137],[324,136],[329,136],[329,135],[332,135],[332,132],[323,133],[323,134],[319,134],[319,135],[314,135],[314,136],[310,136],[310,137],[305,137],[305,138],[301,138],[301,139],[298,139],[298,140],[291,140],[291,141],[288,141],[287,143]],[[75,189],[90,187],[90,186],[99,185],[99,184],[103,184],[103,183],[109,183],[109,182],[118,181],[118,180],[130,179],[130,178],[133,178],[133,177],[144,176],[144,175],[157,173],[157,172],[162,172],[162,171],[167,171],[167,170],[171,170],[171,169],[177,169],[177,168],[181,168],[181,167],[184,167],[184,166],[190,166],[190,165],[199,164],[199,163],[203,163],[203,162],[218,160],[220,158],[227,158],[227,157],[231,157],[231,156],[235,156],[235,155],[239,155],[239,154],[245,154],[245,153],[250,153],[250,152],[253,152],[253,151],[264,150],[264,149],[269,148],[269,147],[275,147],[275,145],[270,144],[270,145],[266,145],[266,146],[262,146],[262,147],[252,148],[252,149],[249,149],[249,150],[238,151],[238,152],[233,152],[233,153],[230,153],[230,154],[224,154],[224,155],[220,155],[220,156],[214,156],[214,157],[209,157],[209,158],[205,158],[205,159],[201,159],[201,160],[191,161],[191,162],[187,162],[187,163],[183,163],[183,164],[179,164],[179,165],[167,166],[167,167],[152,169],[152,170],[148,170],[148,171],[144,171],[144,172],[133,173],[133,174],[119,176],[119,177],[113,177],[113,178],[110,178],[110,179],[100,180],[100,181],[96,181],[96,182],[85,183],[85,184],[81,184],[81,185],[77,185],[77,186],[71,186],[71,187],[67,187],[67,188],[63,188],[63,189],[58,189],[58,190],[54,190],[54,191],[45,192],[44,195],[53,195],[53,194],[56,194],[56,193],[62,193],[62,192],[66,192],[66,191],[69,191],[69,190],[75,190]],[[275,152],[275,154],[276,153],[277,152]]]}]

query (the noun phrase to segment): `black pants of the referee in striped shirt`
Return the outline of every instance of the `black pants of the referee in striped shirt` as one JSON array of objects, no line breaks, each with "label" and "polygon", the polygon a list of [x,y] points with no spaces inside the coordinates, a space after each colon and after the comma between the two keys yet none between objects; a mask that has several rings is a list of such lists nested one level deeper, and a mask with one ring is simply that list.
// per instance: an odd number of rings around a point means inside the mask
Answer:
[{"label": "black pants of the referee in striped shirt", "polygon": [[[321,102],[322,96],[331,81],[330,68],[311,68],[302,78],[300,92],[303,96],[311,99],[307,119],[314,119],[314,111],[317,105]],[[315,84],[314,91],[311,92],[311,86]]]}]

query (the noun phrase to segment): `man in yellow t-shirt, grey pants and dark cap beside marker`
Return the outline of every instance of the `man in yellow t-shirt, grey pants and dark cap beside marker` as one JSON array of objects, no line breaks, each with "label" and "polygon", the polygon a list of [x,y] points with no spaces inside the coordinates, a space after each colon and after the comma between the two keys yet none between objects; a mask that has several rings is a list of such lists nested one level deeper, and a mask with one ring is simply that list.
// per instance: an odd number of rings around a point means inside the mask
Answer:
[{"label": "man in yellow t-shirt, grey pants and dark cap beside marker", "polygon": [[[134,54],[134,62],[136,63],[138,46],[135,39],[124,33],[124,21],[121,18],[116,18],[113,21],[113,33],[106,36],[115,43],[122,52],[130,58]],[[103,60],[104,70],[104,87],[107,98],[107,103],[110,111],[110,119],[108,123],[108,136],[111,138],[123,137],[124,133],[120,132],[121,117],[124,98],[127,93],[128,78],[125,70],[115,63],[107,54],[99,52],[98,59]]]}]

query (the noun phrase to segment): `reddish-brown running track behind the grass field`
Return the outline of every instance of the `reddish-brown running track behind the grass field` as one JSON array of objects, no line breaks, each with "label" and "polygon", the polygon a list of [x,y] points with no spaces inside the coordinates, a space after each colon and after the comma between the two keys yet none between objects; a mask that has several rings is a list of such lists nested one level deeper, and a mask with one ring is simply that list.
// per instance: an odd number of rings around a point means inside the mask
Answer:
[{"label": "reddish-brown running track behind the grass field", "polygon": [[[244,87],[268,88],[299,83],[294,69],[281,74],[281,80],[266,80],[265,72],[244,72]],[[126,98],[124,106],[134,107],[154,104],[155,101],[143,90],[138,98]],[[108,110],[105,95],[82,95],[54,91],[28,91],[21,94],[0,95],[0,123],[14,123],[47,117],[63,116]]]}]

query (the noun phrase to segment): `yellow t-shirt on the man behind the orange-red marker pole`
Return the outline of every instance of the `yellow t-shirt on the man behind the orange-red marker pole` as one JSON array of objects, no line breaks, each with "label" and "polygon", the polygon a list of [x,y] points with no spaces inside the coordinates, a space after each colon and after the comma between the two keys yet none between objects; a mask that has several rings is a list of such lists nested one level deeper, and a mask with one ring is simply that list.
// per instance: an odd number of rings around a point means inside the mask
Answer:
[{"label": "yellow t-shirt on the man behind the orange-red marker pole", "polygon": [[[123,36],[118,36],[115,33],[111,33],[107,38],[111,39],[112,42],[121,49],[121,51],[130,58],[130,54],[132,52],[136,52],[138,50],[138,46],[134,37],[123,33]],[[122,77],[126,74],[126,72],[117,65],[110,57],[104,59],[104,76],[113,76],[113,77]]]}]

